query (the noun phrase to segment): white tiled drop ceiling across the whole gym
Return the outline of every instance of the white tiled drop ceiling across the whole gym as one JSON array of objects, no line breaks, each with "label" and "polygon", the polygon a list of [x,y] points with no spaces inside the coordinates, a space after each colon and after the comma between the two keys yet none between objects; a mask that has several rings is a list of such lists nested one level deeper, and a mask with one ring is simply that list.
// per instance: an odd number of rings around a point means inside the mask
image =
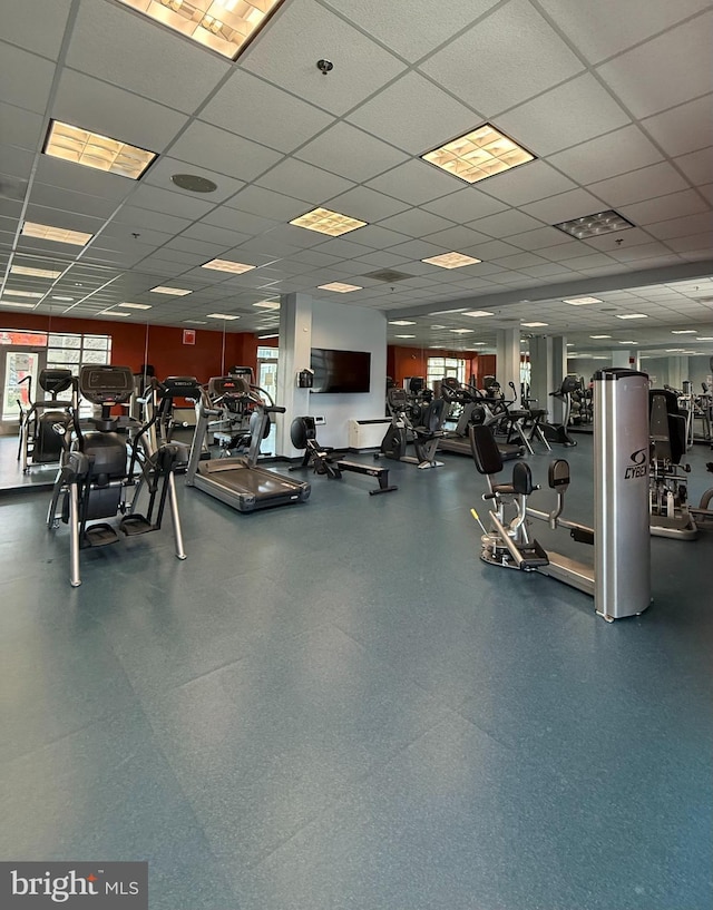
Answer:
[{"label": "white tiled drop ceiling across the whole gym", "polygon": [[[226,331],[267,334],[279,316],[254,304],[296,292],[412,322],[389,325],[394,344],[492,350],[497,329],[543,322],[520,331],[583,352],[636,340],[713,353],[695,341],[713,335],[710,0],[447,7],[286,0],[232,62],[116,0],[13,3],[0,41],[2,321],[30,312],[13,303],[206,329],[225,313],[238,316]],[[137,182],[48,157],[52,119],[158,157]],[[486,123],[536,160],[473,185],[421,160]],[[216,189],[180,189],[176,174]],[[367,226],[331,238],[290,224],[315,207]],[[553,226],[605,209],[634,227],[575,239]],[[92,238],[29,237],[25,222]],[[453,252],[480,262],[422,262]],[[254,267],[202,267],[215,258]],[[335,282],[361,290],[320,288]],[[600,303],[563,303],[576,295]],[[646,319],[618,319],[632,313]]]}]

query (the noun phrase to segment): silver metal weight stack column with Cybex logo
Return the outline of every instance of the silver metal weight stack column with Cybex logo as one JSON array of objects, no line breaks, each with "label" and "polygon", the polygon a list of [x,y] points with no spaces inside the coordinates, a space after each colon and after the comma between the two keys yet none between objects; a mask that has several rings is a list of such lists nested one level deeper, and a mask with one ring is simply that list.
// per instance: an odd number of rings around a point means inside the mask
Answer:
[{"label": "silver metal weight stack column with Cybex logo", "polygon": [[594,608],[607,622],[651,604],[648,376],[594,375]]}]

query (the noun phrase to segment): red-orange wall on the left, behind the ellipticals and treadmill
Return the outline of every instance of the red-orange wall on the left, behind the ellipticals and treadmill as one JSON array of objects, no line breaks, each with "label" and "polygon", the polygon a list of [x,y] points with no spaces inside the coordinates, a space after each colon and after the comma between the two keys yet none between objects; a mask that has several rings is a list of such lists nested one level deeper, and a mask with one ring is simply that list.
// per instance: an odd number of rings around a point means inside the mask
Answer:
[{"label": "red-orange wall on the left, behind the ellipticals and treadmill", "polygon": [[[95,332],[111,336],[111,363],[130,366],[137,371],[143,363],[150,363],[156,375],[192,375],[201,382],[221,375],[229,366],[256,369],[257,337],[247,332],[211,332],[196,330],[196,343],[183,343],[183,329],[172,325],[141,325],[135,322],[105,322],[104,320],[78,320],[61,316],[33,315],[30,313],[0,313],[0,327],[37,330],[42,332]],[[148,333],[148,334],[147,334]],[[260,342],[274,346],[276,340]]]}]

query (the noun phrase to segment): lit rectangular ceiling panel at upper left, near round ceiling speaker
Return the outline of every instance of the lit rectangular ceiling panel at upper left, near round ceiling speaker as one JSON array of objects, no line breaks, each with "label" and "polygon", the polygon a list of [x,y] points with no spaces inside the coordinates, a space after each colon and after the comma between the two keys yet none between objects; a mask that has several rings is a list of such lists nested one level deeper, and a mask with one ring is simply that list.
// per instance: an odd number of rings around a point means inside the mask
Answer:
[{"label": "lit rectangular ceiling panel at upper left, near round ceiling speaker", "polygon": [[119,139],[110,139],[108,136],[100,136],[71,124],[62,124],[60,120],[50,120],[45,154],[97,170],[130,177],[133,180],[138,180],[157,157],[155,151],[146,151]]}]

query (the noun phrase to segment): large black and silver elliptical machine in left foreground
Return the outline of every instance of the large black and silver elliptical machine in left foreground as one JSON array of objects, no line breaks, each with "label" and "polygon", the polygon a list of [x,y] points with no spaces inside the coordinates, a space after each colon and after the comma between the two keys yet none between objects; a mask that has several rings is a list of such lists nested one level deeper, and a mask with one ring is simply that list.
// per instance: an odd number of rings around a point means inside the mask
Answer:
[{"label": "large black and silver elliptical machine in left foreground", "polygon": [[[120,538],[160,530],[166,501],[170,508],[176,557],[185,559],[174,470],[180,449],[174,444],[152,444],[154,424],[175,395],[197,394],[193,378],[170,378],[160,384],[162,405],[153,419],[140,422],[131,417],[113,417],[115,405],[128,405],[134,376],[128,366],[86,365],[76,380],[77,390],[101,408],[92,418],[91,430],[82,429],[79,410],[74,409],[74,439],[58,471],[47,525],[53,530],[69,525],[70,584],[81,584],[79,554],[105,547]],[[146,490],[145,515],[138,500]],[[121,516],[118,526],[106,519]],[[117,532],[118,531],[118,532]]]}]

